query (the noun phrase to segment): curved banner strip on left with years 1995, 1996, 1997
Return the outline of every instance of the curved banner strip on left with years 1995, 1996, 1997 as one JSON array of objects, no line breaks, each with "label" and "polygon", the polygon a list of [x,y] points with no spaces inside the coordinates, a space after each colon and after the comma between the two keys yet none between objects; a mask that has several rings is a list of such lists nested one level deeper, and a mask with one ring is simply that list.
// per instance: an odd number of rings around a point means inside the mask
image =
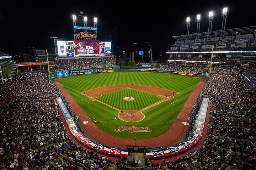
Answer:
[{"label": "curved banner strip on left with years 1995, 1996, 1997", "polygon": [[65,118],[65,121],[68,125],[68,128],[71,132],[71,134],[79,141],[79,143],[82,143],[83,145],[90,147],[91,149],[95,149],[97,151],[100,151],[105,154],[110,155],[118,155],[123,157],[128,157],[128,150],[122,149],[122,148],[114,148],[107,145],[103,145],[101,143],[97,143],[94,140],[91,140],[89,137],[87,137],[85,134],[83,134],[78,126],[76,125],[75,121],[71,117],[68,109],[66,108],[64,102],[60,97],[56,97],[56,100],[59,104],[59,107],[62,111],[62,114]]}]

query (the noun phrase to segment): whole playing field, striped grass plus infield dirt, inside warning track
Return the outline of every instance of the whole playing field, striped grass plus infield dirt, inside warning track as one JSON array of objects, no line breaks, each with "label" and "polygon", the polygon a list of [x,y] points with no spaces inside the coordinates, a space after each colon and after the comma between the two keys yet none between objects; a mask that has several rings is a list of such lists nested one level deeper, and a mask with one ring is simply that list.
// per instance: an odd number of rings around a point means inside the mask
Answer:
[{"label": "whole playing field, striped grass plus infield dirt, inside warning track", "polygon": [[[84,123],[86,131],[91,126],[97,126],[98,130],[93,131],[95,134],[102,131],[116,138],[138,140],[154,138],[167,132],[202,80],[175,74],[140,72],[112,72],[55,79],[82,109],[76,114]],[[129,100],[130,96],[132,100]],[[130,113],[133,113],[133,118],[129,117]],[[93,123],[94,118],[96,123]],[[123,130],[124,127],[134,126],[137,130]]]}]

